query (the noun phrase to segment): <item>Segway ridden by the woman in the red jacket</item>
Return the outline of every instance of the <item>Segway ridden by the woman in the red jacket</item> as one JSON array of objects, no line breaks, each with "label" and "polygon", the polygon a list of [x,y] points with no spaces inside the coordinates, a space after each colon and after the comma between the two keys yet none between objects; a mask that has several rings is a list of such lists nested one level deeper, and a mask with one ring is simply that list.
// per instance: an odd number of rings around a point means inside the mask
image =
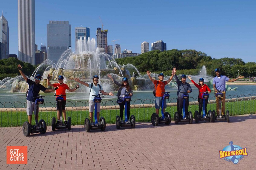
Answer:
[{"label": "Segway ridden by the woman in the red jacket", "polygon": [[205,113],[205,100],[209,98],[209,93],[208,92],[201,92],[202,93],[202,97],[203,97],[203,116],[199,115],[199,112],[196,110],[194,113],[194,118],[195,118],[195,122],[198,123],[199,121],[209,121],[209,122],[213,122],[213,114],[212,111],[209,110],[207,112],[207,115]]}]

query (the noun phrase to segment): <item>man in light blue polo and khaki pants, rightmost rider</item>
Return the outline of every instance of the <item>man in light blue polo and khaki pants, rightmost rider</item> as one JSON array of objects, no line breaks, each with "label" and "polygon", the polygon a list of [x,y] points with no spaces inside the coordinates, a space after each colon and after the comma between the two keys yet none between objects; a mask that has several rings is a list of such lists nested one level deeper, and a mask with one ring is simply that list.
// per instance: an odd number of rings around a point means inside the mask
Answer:
[{"label": "man in light blue polo and khaki pants, rightmost rider", "polygon": [[[215,91],[215,96],[216,96],[216,92],[218,92],[218,90],[223,93],[223,97],[221,97],[221,103],[222,103],[222,113],[221,114],[223,115],[223,117],[226,117],[225,116],[226,82],[234,82],[238,79],[244,78],[244,76],[239,76],[236,79],[229,79],[226,76],[220,75],[219,69],[215,69],[214,72],[216,74],[216,77],[213,78],[212,84],[213,84],[213,88]],[[219,110],[219,100],[217,97],[216,97],[216,113],[217,113],[216,117],[219,117],[220,110]]]}]

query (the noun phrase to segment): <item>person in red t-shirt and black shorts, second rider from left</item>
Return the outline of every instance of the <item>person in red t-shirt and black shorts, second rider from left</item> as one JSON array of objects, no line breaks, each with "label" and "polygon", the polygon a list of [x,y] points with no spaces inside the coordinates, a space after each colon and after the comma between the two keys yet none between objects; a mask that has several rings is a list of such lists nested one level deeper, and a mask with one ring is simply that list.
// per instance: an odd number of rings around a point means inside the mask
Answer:
[{"label": "person in red t-shirt and black shorts, second rider from left", "polygon": [[[63,79],[64,77],[63,76],[58,76],[57,77],[58,80],[59,80],[59,83],[54,83],[54,84],[51,84],[50,83],[50,74],[48,74],[48,77],[47,77],[47,85],[49,86],[53,86],[53,87],[59,87],[57,90],[56,90],[56,95],[66,95],[66,89],[68,91],[75,91],[77,88],[79,88],[79,85],[76,85],[75,88],[69,88],[68,85],[66,85],[65,83],[63,83]],[[56,96],[57,97],[57,96]],[[66,111],[65,111],[65,107],[66,107],[66,96],[63,96],[63,101],[61,102],[61,110],[62,110],[62,113],[63,113],[63,117],[64,117],[64,124],[67,124],[67,121],[66,121]],[[59,102],[57,102],[57,123],[56,125],[59,125],[60,124],[60,105],[59,105]]]}]

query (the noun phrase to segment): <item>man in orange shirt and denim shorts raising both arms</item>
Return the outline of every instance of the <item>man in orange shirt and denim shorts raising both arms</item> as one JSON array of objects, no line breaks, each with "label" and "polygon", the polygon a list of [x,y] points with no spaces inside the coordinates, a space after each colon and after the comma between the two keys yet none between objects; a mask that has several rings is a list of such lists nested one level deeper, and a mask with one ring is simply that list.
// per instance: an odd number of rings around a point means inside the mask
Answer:
[{"label": "man in orange shirt and denim shorts raising both arms", "polygon": [[[155,98],[155,108],[156,108],[156,114],[159,114],[159,109],[160,107],[162,107],[162,102],[164,102],[164,108],[163,111],[166,108],[166,99],[164,99],[163,101],[163,96],[164,96],[164,86],[167,85],[172,79],[173,79],[173,73],[172,76],[170,76],[170,78],[167,81],[163,81],[164,80],[164,74],[160,73],[158,74],[158,81],[154,80],[151,76],[150,76],[151,72],[149,72],[147,70],[147,75],[149,77],[149,79],[154,83],[155,85],[155,89],[156,89],[156,98]],[[158,82],[158,83],[157,83]]]}]

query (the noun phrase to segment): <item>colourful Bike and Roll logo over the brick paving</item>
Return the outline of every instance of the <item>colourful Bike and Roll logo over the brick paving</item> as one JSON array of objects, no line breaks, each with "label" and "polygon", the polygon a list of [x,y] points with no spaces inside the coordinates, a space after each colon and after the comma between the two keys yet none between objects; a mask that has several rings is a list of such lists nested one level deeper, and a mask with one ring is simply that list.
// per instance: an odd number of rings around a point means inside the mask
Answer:
[{"label": "colourful Bike and Roll logo over the brick paving", "polygon": [[229,142],[229,145],[224,147],[223,150],[219,150],[219,158],[228,162],[237,164],[245,156],[248,156],[247,148],[241,148],[238,145],[233,145],[233,141]]}]

